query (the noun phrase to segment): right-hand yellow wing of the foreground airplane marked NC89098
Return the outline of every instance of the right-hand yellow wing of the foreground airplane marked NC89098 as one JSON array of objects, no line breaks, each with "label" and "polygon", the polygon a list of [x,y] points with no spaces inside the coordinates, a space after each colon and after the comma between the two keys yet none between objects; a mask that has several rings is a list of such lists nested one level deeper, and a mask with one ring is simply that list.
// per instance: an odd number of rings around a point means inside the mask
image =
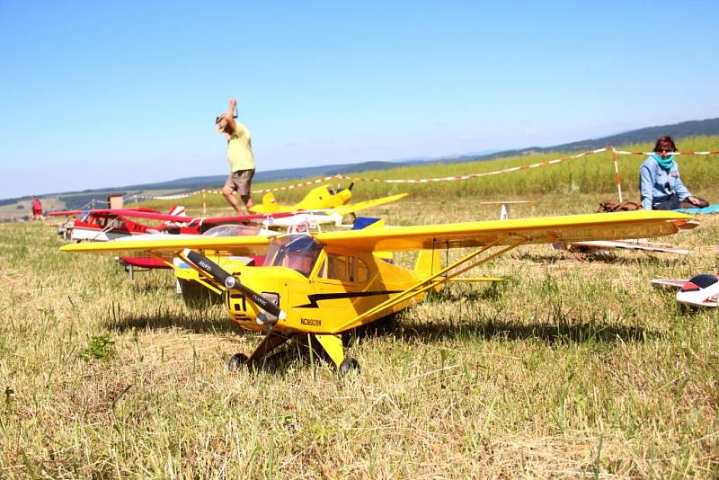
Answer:
[{"label": "right-hand yellow wing of the foreground airplane marked NC89098", "polygon": [[493,242],[514,244],[571,243],[664,236],[697,226],[688,215],[639,210],[566,217],[524,218],[416,227],[386,227],[316,234],[317,241],[372,252],[423,248],[477,247]]}]

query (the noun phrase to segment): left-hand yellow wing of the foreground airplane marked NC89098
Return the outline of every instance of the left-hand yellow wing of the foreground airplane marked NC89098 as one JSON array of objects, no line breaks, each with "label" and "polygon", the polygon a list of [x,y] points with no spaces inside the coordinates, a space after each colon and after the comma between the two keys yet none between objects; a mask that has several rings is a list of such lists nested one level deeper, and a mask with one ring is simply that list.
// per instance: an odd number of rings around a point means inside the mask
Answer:
[{"label": "left-hand yellow wing of the foreground airplane marked NC89098", "polygon": [[85,244],[67,244],[60,247],[62,252],[114,253],[120,256],[140,256],[154,253],[172,257],[185,248],[200,251],[215,251],[232,255],[262,254],[270,244],[269,236],[137,236]]}]

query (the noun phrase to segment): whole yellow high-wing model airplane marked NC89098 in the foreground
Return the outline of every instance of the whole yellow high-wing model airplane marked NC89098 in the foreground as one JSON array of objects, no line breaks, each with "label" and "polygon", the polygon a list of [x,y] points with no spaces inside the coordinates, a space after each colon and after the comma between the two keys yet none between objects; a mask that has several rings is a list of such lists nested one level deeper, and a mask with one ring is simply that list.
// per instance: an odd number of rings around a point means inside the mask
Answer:
[{"label": "whole yellow high-wing model airplane marked NC89098 in the foreground", "polygon": [[[177,256],[223,292],[230,317],[247,330],[267,332],[252,354],[228,365],[262,358],[295,335],[310,334],[346,372],[341,334],[388,316],[431,289],[523,244],[572,243],[664,236],[695,227],[688,215],[633,211],[554,218],[467,222],[416,227],[377,227],[312,235],[193,237],[68,244],[65,252]],[[441,266],[439,252],[474,251]],[[418,250],[413,270],[378,253]],[[226,262],[237,255],[265,255],[264,266]],[[224,263],[222,268],[218,263]]]}]

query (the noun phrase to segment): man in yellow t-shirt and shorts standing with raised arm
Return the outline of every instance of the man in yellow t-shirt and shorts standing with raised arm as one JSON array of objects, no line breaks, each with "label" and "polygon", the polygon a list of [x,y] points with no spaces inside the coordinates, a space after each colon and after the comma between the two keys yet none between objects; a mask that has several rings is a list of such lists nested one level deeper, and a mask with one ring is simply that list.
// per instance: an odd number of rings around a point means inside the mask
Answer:
[{"label": "man in yellow t-shirt and shorts standing with raised arm", "polygon": [[236,106],[237,101],[231,99],[227,111],[215,119],[217,133],[227,138],[227,160],[230,163],[230,174],[227,176],[225,186],[222,187],[222,194],[237,213],[242,213],[240,203],[235,199],[234,192],[237,191],[249,213],[249,209],[254,205],[250,198],[254,176],[253,141],[250,138],[250,130],[235,121],[233,112]]}]

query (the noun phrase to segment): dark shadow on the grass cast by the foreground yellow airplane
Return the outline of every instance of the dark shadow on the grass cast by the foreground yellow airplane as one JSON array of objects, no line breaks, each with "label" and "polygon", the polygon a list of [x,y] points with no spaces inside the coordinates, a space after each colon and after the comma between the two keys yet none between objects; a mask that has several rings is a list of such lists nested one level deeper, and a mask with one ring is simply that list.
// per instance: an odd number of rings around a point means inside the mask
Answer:
[{"label": "dark shadow on the grass cast by the foreground yellow airplane", "polygon": [[[482,294],[482,292],[477,292]],[[343,335],[345,347],[361,345],[368,338],[394,336],[402,342],[441,342],[464,339],[469,341],[534,341],[546,345],[614,344],[617,342],[646,342],[661,338],[661,333],[637,326],[609,324],[599,320],[568,319],[549,317],[529,324],[501,318],[481,319],[477,323],[466,320],[458,324],[420,323],[400,313],[386,316],[376,322],[356,328]],[[108,327],[119,332],[128,330],[178,328],[189,333],[237,333],[250,334],[256,345],[262,342],[262,335],[250,333],[233,324],[223,310],[211,312],[158,312],[155,315],[129,315],[108,320]],[[255,343],[253,342],[253,345]],[[310,348],[312,346],[312,353]],[[360,347],[361,348],[361,347]],[[251,351],[243,351],[249,355]],[[306,334],[297,334],[281,345],[276,351],[254,361],[243,368],[258,373],[281,375],[293,368],[312,368],[313,364],[324,364],[334,368],[332,360],[316,341],[308,342]]]}]

